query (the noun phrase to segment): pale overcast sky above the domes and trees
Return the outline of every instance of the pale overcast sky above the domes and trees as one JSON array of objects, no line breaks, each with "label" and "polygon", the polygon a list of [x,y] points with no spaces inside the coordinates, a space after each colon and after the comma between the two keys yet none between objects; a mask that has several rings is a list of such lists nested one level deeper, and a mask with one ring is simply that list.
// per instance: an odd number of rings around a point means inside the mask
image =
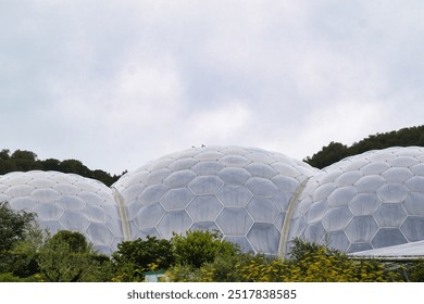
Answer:
[{"label": "pale overcast sky above the domes and trees", "polygon": [[112,174],[424,124],[424,1],[0,0],[0,149]]}]

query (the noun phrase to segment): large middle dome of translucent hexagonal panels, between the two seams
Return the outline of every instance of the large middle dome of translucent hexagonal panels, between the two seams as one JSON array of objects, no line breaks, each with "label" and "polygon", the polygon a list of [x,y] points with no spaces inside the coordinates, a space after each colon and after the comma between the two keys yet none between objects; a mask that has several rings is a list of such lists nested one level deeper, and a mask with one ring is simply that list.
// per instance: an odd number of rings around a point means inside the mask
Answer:
[{"label": "large middle dome of translucent hexagonal panels, between the two seams", "polygon": [[165,155],[113,187],[134,239],[219,230],[245,251],[276,255],[290,199],[314,172],[280,153],[208,147]]}]

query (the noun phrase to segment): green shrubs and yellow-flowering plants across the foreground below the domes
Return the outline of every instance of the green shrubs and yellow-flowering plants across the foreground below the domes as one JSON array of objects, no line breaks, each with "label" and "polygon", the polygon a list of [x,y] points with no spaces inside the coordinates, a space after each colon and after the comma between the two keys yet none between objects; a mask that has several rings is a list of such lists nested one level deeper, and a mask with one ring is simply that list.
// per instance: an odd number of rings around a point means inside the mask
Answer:
[{"label": "green shrubs and yellow-flowering plants across the foreground below the domes", "polygon": [[79,232],[40,230],[34,214],[0,204],[0,281],[144,281],[147,271],[165,271],[179,282],[423,281],[422,261],[386,265],[352,259],[327,246],[295,240],[288,259],[242,253],[209,231],[171,240],[124,241],[112,256],[97,253]]}]

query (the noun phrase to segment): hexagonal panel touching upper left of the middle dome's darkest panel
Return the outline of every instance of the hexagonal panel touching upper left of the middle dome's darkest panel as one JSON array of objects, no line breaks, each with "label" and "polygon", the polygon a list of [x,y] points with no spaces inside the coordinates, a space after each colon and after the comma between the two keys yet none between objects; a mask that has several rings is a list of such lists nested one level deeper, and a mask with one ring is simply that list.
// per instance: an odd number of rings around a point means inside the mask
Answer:
[{"label": "hexagonal panel touching upper left of the middle dome's darkest panel", "polygon": [[224,208],[216,224],[226,236],[246,236],[253,220],[245,208]]}]

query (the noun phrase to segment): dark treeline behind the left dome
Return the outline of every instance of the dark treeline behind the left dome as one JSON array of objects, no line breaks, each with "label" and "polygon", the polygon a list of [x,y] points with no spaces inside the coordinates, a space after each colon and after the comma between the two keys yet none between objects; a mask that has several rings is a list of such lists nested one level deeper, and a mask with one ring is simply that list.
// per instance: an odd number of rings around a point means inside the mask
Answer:
[{"label": "dark treeline behind the left dome", "polygon": [[78,174],[84,177],[100,180],[107,186],[111,186],[121,176],[111,175],[101,169],[91,170],[77,160],[59,161],[55,159],[38,160],[36,153],[25,150],[16,150],[11,153],[10,150],[3,149],[0,152],[0,175],[11,172],[28,170],[55,170],[62,173]]}]

